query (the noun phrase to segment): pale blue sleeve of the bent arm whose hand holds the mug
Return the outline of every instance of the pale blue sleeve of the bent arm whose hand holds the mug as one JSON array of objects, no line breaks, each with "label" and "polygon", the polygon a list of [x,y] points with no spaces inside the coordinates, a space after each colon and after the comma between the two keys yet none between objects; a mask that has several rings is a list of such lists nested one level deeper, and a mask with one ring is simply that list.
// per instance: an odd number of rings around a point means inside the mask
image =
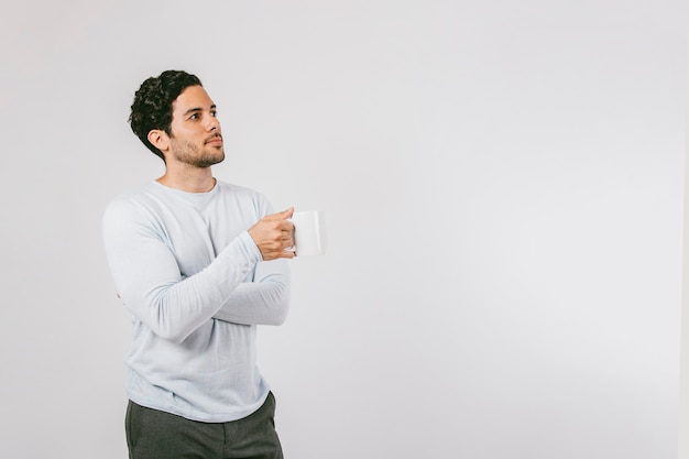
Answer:
[{"label": "pale blue sleeve of the bent arm whose hand holds the mug", "polygon": [[261,253],[247,231],[189,277],[145,209],[129,200],[108,206],[106,255],[118,294],[131,313],[163,339],[182,342],[230,300]]}]

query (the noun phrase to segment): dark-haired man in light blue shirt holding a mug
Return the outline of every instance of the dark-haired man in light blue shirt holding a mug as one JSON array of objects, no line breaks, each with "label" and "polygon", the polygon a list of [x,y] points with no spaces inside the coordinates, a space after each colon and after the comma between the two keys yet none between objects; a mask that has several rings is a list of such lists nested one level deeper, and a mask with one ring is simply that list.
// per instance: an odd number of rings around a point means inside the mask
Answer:
[{"label": "dark-haired man in light blue shirt holding a mug", "polygon": [[214,178],[222,132],[196,76],[146,79],[130,124],[165,163],[103,215],[110,271],[133,316],[130,458],[282,458],[255,335],[286,317],[293,208],[271,214],[261,194]]}]

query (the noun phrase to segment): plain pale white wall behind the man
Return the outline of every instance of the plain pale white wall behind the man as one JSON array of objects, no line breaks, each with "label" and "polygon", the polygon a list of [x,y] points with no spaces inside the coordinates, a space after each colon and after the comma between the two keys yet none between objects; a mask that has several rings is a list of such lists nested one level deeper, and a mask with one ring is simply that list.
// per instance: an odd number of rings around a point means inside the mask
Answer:
[{"label": "plain pale white wall behind the man", "polygon": [[687,4],[29,1],[0,14],[0,457],[125,457],[107,201],[197,74],[220,179],[322,209],[260,331],[288,458],[677,456]]}]

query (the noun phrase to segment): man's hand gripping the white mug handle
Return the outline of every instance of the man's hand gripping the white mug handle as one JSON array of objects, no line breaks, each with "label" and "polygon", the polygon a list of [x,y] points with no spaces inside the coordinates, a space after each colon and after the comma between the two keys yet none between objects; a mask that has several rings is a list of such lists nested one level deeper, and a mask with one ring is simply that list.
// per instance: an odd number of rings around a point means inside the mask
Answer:
[{"label": "man's hand gripping the white mug handle", "polygon": [[249,228],[249,236],[261,251],[263,260],[293,259],[295,253],[286,250],[294,247],[294,225],[288,219],[294,207],[272,214],[256,221]]}]

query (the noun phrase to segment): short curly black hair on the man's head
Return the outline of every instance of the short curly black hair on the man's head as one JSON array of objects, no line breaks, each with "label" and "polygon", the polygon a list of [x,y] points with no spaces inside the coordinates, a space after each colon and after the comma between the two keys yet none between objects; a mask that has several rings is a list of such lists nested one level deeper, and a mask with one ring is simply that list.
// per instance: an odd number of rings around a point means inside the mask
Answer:
[{"label": "short curly black hair on the man's head", "polygon": [[171,135],[173,101],[189,86],[204,85],[197,76],[186,72],[165,70],[143,81],[134,95],[129,123],[134,134],[163,162],[165,156],[149,142],[149,132],[160,129]]}]

